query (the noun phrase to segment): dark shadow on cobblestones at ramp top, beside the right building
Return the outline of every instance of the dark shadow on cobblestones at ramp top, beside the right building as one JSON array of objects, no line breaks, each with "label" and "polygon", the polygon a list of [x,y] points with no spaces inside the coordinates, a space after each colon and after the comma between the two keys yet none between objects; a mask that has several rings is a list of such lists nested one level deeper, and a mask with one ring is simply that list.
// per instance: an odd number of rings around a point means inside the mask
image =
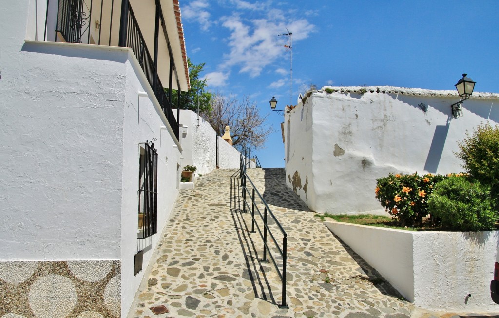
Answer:
[{"label": "dark shadow on cobblestones at ramp top, beside the right building", "polygon": [[265,191],[263,200],[267,204],[285,209],[311,212],[292,189],[286,186],[286,171],[284,168],[263,168]]}]

